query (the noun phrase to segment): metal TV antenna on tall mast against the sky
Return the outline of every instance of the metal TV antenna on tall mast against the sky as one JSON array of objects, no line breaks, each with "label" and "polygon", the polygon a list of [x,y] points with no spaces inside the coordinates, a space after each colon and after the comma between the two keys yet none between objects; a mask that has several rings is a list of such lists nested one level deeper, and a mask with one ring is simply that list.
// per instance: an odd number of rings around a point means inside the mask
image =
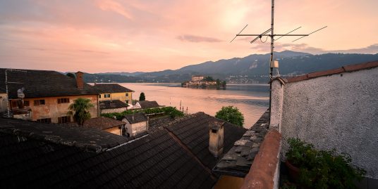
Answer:
[{"label": "metal TV antenna on tall mast against the sky", "polygon": [[[294,30],[291,30],[290,32],[287,32],[286,34],[274,34],[274,0],[272,0],[272,23],[271,23],[271,28],[269,28],[265,32],[262,32],[261,34],[240,34],[241,32],[243,32],[243,30],[245,30],[245,28],[247,26],[248,25],[245,25],[245,27],[243,27],[243,29],[240,30],[240,32],[238,34],[236,34],[236,36],[230,41],[230,43],[233,40],[235,40],[236,37],[239,37],[239,36],[253,36],[253,37],[256,37],[255,39],[253,39],[252,41],[250,41],[251,44],[253,42],[257,41],[258,39],[261,40],[262,37],[270,37],[270,61],[269,61],[269,63],[270,63],[269,77],[270,77],[270,79],[273,78],[273,68],[276,68],[277,72],[278,72],[278,68],[279,68],[278,61],[274,61],[273,60],[273,58],[274,58],[273,57],[273,54],[274,54],[274,41],[277,41],[277,40],[281,39],[282,37],[299,37],[298,39],[295,39],[292,42],[298,41],[299,39],[302,39],[303,37],[307,37],[310,34],[318,32],[319,30],[323,30],[324,28],[327,27],[327,26],[324,26],[324,27],[322,27],[322,28],[320,28],[318,30],[315,30],[314,32],[310,32],[309,34],[291,34],[291,32],[294,32],[295,30],[300,29],[300,27],[297,27]],[[270,34],[269,34],[269,32],[270,32]],[[274,37],[279,37],[279,38],[274,39]]]}]

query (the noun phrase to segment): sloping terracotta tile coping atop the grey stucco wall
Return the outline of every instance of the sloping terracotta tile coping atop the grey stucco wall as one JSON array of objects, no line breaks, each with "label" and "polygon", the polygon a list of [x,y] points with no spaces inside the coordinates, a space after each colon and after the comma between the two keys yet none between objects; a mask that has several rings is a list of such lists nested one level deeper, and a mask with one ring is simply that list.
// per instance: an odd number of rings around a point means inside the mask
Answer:
[{"label": "sloping terracotta tile coping atop the grey stucco wall", "polygon": [[339,68],[332,69],[332,70],[312,72],[312,73],[308,73],[308,74],[304,74],[304,75],[300,75],[300,76],[296,76],[296,77],[287,77],[283,80],[286,83],[300,82],[300,81],[303,81],[303,80],[313,79],[313,78],[316,78],[316,77],[328,76],[328,75],[331,75],[331,74],[341,74],[343,72],[355,72],[355,71],[358,71],[358,70],[372,69],[374,67],[378,67],[378,60],[373,61],[373,62],[368,62],[368,63],[355,64],[355,65],[345,65],[343,67],[339,67]]}]

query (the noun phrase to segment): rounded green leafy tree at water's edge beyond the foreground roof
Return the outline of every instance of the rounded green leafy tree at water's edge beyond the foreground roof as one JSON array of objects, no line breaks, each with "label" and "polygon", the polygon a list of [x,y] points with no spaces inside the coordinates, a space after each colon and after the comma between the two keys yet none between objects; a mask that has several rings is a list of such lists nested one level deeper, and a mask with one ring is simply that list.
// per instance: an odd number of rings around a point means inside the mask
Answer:
[{"label": "rounded green leafy tree at water's edge beyond the foreground roof", "polygon": [[243,126],[244,124],[243,114],[239,111],[238,107],[233,107],[232,105],[222,107],[215,117],[238,126]]}]

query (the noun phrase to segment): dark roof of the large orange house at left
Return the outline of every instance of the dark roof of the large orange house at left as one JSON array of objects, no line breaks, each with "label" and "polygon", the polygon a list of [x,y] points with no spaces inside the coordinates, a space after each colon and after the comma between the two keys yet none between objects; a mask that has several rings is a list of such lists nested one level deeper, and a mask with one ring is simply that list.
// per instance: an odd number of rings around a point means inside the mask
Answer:
[{"label": "dark roof of the large orange house at left", "polygon": [[[5,70],[0,68],[0,88],[5,87]],[[8,84],[9,98],[17,98],[17,90],[25,88],[25,98],[39,98],[49,96],[74,96],[97,94],[97,89],[84,84],[84,89],[77,88],[76,79],[55,71],[21,70],[22,72],[7,71],[8,82],[22,84]]]}]

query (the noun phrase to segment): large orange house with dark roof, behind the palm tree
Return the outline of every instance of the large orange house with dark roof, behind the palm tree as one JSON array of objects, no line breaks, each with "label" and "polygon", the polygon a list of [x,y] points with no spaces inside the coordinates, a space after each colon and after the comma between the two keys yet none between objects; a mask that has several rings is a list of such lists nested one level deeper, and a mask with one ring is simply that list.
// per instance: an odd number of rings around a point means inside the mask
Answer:
[{"label": "large orange house with dark roof, behind the palm tree", "polygon": [[98,91],[83,81],[83,72],[77,72],[76,78],[72,78],[47,70],[0,69],[1,89],[6,89],[5,79],[8,79],[9,108],[15,118],[46,123],[71,122],[68,106],[78,98],[90,99],[94,105],[90,108],[91,117],[99,115]]}]

